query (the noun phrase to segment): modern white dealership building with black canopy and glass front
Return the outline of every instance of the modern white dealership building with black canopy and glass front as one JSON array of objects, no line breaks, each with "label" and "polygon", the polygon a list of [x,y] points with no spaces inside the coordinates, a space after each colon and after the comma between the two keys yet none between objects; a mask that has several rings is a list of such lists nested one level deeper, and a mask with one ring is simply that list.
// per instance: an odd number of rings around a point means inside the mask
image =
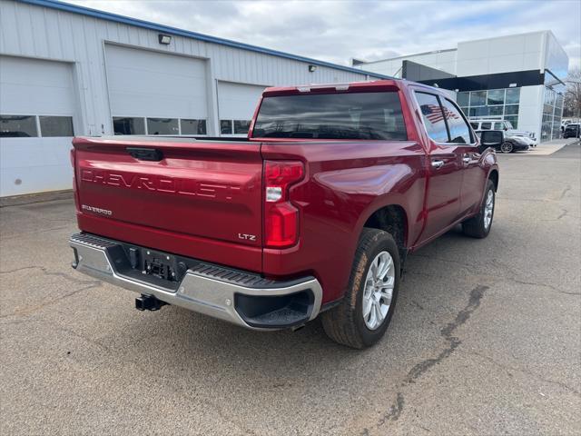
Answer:
[{"label": "modern white dealership building with black canopy and glass front", "polygon": [[535,133],[540,142],[559,137],[569,58],[548,30],[353,64],[454,91],[471,119],[507,120],[518,130]]}]

